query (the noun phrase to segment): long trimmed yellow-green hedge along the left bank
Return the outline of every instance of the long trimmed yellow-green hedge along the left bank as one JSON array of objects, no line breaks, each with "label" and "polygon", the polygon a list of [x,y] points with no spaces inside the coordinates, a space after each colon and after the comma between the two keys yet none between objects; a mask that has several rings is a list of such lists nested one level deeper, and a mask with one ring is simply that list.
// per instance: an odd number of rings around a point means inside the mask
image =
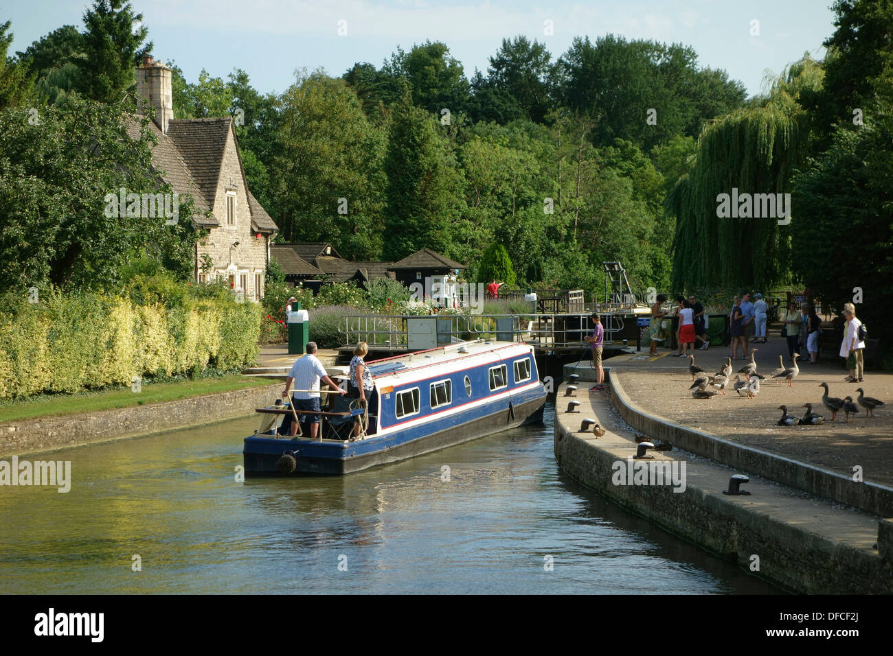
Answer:
[{"label": "long trimmed yellow-green hedge along the left bank", "polygon": [[0,399],[130,385],[135,376],[238,370],[255,362],[262,310],[230,298],[136,304],[54,292],[0,312]]}]

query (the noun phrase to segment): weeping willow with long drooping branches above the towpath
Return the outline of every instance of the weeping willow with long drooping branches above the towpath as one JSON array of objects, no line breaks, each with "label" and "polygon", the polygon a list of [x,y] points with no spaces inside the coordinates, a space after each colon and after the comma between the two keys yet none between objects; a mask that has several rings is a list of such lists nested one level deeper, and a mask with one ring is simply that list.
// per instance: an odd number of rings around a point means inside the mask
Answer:
[{"label": "weeping willow with long drooping branches above the towpath", "polygon": [[742,202],[744,195],[781,194],[785,201],[791,175],[808,154],[808,116],[797,99],[821,80],[821,67],[807,55],[764,98],[705,126],[688,172],[667,196],[667,210],[676,216],[673,289],[766,288],[788,275],[789,227],[779,223],[787,221],[779,206],[776,216],[760,218],[739,218],[739,212],[720,218],[718,209],[723,194]]}]

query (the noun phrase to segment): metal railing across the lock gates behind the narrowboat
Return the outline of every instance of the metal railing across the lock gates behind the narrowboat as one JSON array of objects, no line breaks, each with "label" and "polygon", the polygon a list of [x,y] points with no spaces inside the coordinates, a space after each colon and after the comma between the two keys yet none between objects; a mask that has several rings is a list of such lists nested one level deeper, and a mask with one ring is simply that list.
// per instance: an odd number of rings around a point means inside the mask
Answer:
[{"label": "metal railing across the lock gates behind the narrowboat", "polygon": [[[601,307],[605,341],[624,327],[623,315],[605,312]],[[626,312],[634,313],[633,310]],[[500,342],[526,342],[543,348],[572,348],[587,345],[584,336],[592,333],[589,311],[573,314],[435,314],[413,316],[399,314],[346,315],[338,332],[345,345],[366,342],[372,346],[409,348],[413,331],[437,336],[438,345],[474,339]]]}]

